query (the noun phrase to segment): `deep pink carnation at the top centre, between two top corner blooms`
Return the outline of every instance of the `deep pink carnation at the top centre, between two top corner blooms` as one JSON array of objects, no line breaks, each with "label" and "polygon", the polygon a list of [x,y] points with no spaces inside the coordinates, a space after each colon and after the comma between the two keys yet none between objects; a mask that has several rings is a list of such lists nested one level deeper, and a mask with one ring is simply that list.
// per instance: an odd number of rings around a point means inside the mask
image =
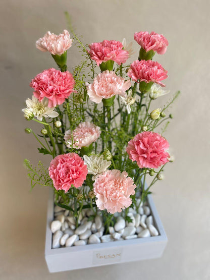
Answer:
[{"label": "deep pink carnation at the top centre, between two top corner blooms", "polygon": [[119,41],[103,40],[99,43],[89,45],[90,50],[87,50],[90,58],[96,61],[97,66],[102,62],[113,60],[121,65],[125,63],[129,57],[127,50],[123,49],[123,44]]}]

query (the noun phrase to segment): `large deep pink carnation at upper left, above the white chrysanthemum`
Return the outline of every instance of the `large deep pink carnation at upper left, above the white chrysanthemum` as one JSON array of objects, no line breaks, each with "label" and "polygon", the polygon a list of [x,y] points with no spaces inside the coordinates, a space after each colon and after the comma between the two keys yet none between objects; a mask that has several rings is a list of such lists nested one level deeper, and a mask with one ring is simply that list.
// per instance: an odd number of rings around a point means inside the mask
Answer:
[{"label": "large deep pink carnation at upper left, above the white chrysanthemum", "polygon": [[54,68],[39,73],[30,83],[30,87],[35,90],[34,96],[39,101],[46,97],[50,108],[64,103],[72,93],[74,85],[75,81],[71,73],[61,72]]}]

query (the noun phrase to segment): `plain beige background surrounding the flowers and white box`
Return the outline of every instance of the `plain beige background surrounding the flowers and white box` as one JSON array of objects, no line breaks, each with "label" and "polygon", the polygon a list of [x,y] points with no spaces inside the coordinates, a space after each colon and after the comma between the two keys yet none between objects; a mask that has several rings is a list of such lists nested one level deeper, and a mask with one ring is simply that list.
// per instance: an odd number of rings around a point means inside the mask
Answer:
[{"label": "plain beige background surrounding the flowers and white box", "polygon": [[[210,279],[209,9],[207,0],[1,0],[1,279]],[[169,72],[167,88],[171,93],[180,89],[182,95],[165,134],[176,161],[166,167],[165,181],[153,188],[169,238],[161,259],[48,273],[47,190],[37,187],[30,193],[22,166],[25,157],[34,163],[42,157],[36,141],[24,133],[27,126],[39,128],[24,120],[21,108],[32,95],[31,78],[55,67],[48,53],[35,48],[35,40],[47,30],[66,28],[64,11],[72,15],[84,43],[124,37],[134,41],[134,32],[146,30],[169,40],[166,54],[156,60]],[[137,56],[138,45],[133,44]],[[68,55],[71,69],[80,56],[76,47]]]}]

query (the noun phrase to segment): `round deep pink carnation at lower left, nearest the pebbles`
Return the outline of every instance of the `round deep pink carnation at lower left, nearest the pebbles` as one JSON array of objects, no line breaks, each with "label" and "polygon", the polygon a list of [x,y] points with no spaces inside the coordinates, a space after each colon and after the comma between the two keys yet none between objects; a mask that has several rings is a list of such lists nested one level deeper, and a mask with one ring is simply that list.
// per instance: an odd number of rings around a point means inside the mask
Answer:
[{"label": "round deep pink carnation at lower left, nearest the pebbles", "polygon": [[66,193],[72,185],[75,188],[82,186],[87,176],[87,166],[76,153],[60,154],[51,160],[49,176],[57,191],[64,190]]}]

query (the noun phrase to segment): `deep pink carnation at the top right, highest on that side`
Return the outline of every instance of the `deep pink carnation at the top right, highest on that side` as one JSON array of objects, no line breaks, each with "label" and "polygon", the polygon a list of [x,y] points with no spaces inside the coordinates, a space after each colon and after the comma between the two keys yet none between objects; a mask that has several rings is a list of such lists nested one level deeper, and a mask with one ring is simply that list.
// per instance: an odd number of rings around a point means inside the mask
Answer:
[{"label": "deep pink carnation at the top right, highest on that side", "polygon": [[168,40],[162,34],[151,32],[139,32],[134,34],[134,40],[143,48],[145,51],[153,49],[153,51],[159,54],[166,52],[167,46],[169,45]]}]

